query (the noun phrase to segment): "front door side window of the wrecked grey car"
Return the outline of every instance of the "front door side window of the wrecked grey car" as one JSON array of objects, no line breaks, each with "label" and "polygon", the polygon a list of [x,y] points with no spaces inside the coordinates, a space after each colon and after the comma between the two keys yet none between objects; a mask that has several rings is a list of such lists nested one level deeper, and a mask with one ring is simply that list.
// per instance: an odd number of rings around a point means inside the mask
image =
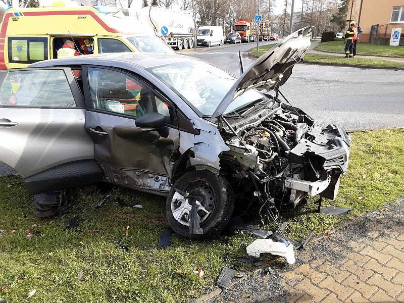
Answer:
[{"label": "front door side window of the wrecked grey car", "polygon": [[167,123],[174,123],[173,108],[136,77],[104,68],[88,68],[87,72],[94,109],[132,117],[157,112]]}]

